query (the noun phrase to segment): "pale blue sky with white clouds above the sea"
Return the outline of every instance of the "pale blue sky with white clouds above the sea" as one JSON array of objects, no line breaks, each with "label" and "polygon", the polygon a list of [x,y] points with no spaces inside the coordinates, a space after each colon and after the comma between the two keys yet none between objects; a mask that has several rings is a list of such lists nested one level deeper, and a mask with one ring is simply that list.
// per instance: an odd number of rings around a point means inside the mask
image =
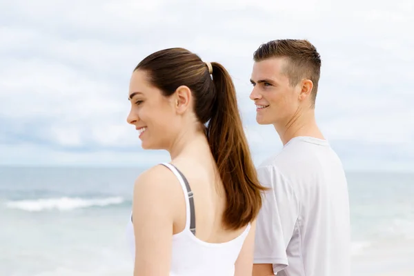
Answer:
[{"label": "pale blue sky with white clouds above the sea", "polygon": [[0,165],[150,166],[126,123],[132,70],[183,47],[228,68],[256,164],[282,148],[249,99],[253,52],[308,39],[317,123],[346,170],[414,170],[414,4],[400,1],[0,0]]}]

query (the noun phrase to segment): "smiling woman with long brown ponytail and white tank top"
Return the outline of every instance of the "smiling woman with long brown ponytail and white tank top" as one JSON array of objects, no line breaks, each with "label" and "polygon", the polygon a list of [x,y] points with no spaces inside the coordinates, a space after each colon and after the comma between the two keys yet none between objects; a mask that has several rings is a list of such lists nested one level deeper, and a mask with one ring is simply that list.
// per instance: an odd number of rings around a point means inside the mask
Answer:
[{"label": "smiling woman with long brown ponytail and white tank top", "polygon": [[142,148],[171,156],[135,181],[134,275],[250,276],[264,188],[226,69],[161,50],[135,68],[128,98]]}]

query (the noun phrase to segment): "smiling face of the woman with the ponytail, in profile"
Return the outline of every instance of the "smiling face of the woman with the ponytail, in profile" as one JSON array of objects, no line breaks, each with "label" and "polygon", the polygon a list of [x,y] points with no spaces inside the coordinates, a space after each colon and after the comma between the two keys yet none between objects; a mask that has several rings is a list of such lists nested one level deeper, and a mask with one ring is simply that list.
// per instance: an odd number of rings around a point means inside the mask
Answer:
[{"label": "smiling face of the woman with the ponytail, in profile", "polygon": [[147,81],[146,72],[136,70],[130,79],[128,98],[131,110],[127,121],[138,130],[142,148],[168,148],[177,132],[174,97],[164,97]]}]

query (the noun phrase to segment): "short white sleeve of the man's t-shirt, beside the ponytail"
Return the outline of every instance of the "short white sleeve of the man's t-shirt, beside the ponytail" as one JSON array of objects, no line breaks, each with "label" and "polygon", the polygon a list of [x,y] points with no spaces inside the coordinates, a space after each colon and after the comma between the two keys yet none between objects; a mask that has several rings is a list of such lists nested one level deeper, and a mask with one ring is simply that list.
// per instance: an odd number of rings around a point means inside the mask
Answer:
[{"label": "short white sleeve of the man's t-shirt, beside the ponytail", "polygon": [[293,235],[299,201],[288,179],[275,166],[257,169],[259,181],[270,188],[264,194],[256,222],[255,264],[273,264],[275,273],[288,266],[286,248]]}]

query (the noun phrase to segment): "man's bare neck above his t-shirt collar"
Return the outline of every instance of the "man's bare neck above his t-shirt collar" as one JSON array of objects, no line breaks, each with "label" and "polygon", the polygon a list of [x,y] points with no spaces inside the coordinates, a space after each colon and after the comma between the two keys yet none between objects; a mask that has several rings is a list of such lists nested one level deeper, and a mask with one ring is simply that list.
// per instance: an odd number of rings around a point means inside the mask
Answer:
[{"label": "man's bare neck above his t-shirt collar", "polygon": [[316,124],[313,109],[306,112],[297,112],[287,123],[275,124],[274,126],[283,145],[286,145],[290,139],[301,136],[324,139],[324,135],[322,135]]}]

